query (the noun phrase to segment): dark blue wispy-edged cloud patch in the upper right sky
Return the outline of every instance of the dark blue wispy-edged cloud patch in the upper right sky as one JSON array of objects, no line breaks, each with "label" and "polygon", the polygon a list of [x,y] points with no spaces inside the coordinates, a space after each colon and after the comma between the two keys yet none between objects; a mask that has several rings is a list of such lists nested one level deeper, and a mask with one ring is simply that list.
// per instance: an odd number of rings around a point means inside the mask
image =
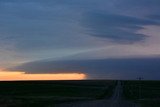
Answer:
[{"label": "dark blue wispy-edged cloud patch in the upper right sky", "polygon": [[86,14],[84,26],[91,36],[111,39],[115,42],[135,42],[147,37],[136,31],[143,29],[145,25],[159,25],[159,22],[136,18],[125,15],[92,12]]}]

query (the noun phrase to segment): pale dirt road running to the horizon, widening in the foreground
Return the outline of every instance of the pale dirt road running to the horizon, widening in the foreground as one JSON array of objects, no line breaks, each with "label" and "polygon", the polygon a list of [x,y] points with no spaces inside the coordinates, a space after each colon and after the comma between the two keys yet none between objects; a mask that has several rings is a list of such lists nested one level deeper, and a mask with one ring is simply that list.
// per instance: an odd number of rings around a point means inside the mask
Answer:
[{"label": "pale dirt road running to the horizon, widening in the foreground", "polygon": [[103,100],[85,101],[77,103],[60,104],[56,107],[138,107],[135,103],[125,101],[122,98],[122,85],[118,81],[112,97]]}]

